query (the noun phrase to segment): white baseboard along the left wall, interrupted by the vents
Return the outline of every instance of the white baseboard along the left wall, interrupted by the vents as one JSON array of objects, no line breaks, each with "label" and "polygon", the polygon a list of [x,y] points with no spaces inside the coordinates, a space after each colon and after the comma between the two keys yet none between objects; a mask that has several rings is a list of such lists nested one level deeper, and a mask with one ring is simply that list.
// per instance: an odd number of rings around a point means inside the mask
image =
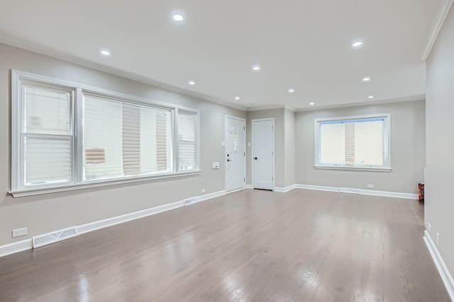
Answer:
[{"label": "white baseboard along the left wall, interrupted by the vents", "polygon": [[[199,202],[202,202],[202,201],[205,201],[205,200],[208,200],[208,199],[211,199],[211,198],[223,196],[225,194],[226,194],[226,191],[222,190],[222,191],[219,191],[219,192],[205,194],[205,195],[201,195],[199,197],[194,197],[194,198],[197,198],[197,199],[199,199]],[[161,213],[163,211],[170,211],[171,209],[177,209],[179,207],[184,207],[184,202],[183,201],[172,202],[171,204],[163,204],[162,206],[158,206],[158,207],[154,207],[154,208],[150,208],[150,209],[145,209],[145,210],[142,210],[142,211],[135,211],[133,213],[124,214],[124,215],[121,215],[121,216],[115,216],[115,217],[111,217],[111,218],[108,218],[108,219],[103,219],[103,220],[99,220],[99,221],[93,221],[93,222],[90,222],[90,223],[85,223],[85,224],[82,224],[80,226],[76,226],[76,228],[77,228],[77,232],[79,234],[88,233],[88,232],[91,232],[91,231],[99,230],[100,228],[106,228],[108,226],[114,226],[114,225],[116,225],[118,223],[123,223],[123,222],[131,221],[131,220],[135,220],[135,219],[140,219],[140,218],[143,218],[145,216],[158,214],[158,213]],[[31,238],[26,239],[26,240],[22,240],[22,241],[18,241],[16,243],[9,243],[7,245],[0,245],[0,257],[6,256],[6,255],[10,255],[10,254],[13,254],[15,252],[22,252],[23,250],[30,250],[31,248],[33,248],[32,239]]]}]

